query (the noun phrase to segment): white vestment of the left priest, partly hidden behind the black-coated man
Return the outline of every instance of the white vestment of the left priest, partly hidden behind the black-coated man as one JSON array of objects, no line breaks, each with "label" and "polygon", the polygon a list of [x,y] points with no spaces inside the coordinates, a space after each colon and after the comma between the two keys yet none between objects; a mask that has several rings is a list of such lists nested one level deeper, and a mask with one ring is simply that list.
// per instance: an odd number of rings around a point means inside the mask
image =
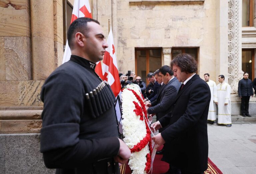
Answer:
[{"label": "white vestment of the left priest, partly hidden behind the black-coated man", "polygon": [[215,121],[216,120],[216,107],[215,107],[215,103],[218,99],[217,99],[217,86],[216,83],[212,80],[209,80],[208,82],[206,82],[211,90],[211,101],[210,101],[210,105],[209,105],[209,111],[208,111],[208,120],[210,121]]}]

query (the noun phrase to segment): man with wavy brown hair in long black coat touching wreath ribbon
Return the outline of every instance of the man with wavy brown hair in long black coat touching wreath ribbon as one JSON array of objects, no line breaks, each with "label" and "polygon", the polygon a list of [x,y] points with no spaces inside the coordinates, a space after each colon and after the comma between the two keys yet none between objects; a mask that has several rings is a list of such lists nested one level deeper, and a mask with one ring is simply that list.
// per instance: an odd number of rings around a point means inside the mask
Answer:
[{"label": "man with wavy brown hair in long black coat touching wreath ribbon", "polygon": [[174,99],[172,112],[153,123],[151,128],[168,126],[152,139],[165,143],[164,157],[170,164],[169,173],[203,174],[208,164],[207,116],[211,99],[210,88],[195,72],[197,63],[188,54],[179,54],[171,62],[174,76],[182,82]]}]

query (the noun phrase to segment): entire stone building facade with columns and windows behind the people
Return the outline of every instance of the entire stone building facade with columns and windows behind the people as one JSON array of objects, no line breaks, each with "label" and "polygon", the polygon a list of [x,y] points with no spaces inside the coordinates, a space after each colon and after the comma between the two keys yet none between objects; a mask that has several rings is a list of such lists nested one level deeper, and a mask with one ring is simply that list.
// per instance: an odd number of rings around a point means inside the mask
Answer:
[{"label": "entire stone building facade with columns and windows behind the people", "polygon": [[[250,25],[242,27],[247,1]],[[132,70],[145,80],[148,72],[169,65],[176,54],[190,53],[201,78],[205,73],[214,81],[220,74],[226,77],[233,115],[240,114],[237,86],[243,65],[251,66],[256,77],[255,2],[247,1],[89,0],[106,36],[112,26],[120,72]],[[61,65],[73,4],[0,0],[0,173],[53,172],[44,168],[39,152],[40,91]],[[250,53],[249,65],[243,64],[243,53]],[[251,99],[251,114],[256,114],[254,102]]]}]

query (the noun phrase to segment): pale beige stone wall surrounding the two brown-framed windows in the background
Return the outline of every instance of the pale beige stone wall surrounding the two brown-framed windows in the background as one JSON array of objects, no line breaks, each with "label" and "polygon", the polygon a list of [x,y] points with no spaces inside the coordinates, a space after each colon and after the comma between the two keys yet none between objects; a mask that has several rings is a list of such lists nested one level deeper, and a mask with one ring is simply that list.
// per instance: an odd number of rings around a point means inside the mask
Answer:
[{"label": "pale beige stone wall surrounding the two brown-framed windows in the background", "polygon": [[[98,3],[97,19],[107,33],[111,9]],[[94,8],[95,10],[96,8]],[[198,47],[199,75],[216,80],[216,0],[204,3],[157,3],[134,5],[117,0],[117,59],[121,72],[135,70],[136,47]],[[113,23],[114,21],[112,21]],[[167,64],[164,61],[163,64]]]}]

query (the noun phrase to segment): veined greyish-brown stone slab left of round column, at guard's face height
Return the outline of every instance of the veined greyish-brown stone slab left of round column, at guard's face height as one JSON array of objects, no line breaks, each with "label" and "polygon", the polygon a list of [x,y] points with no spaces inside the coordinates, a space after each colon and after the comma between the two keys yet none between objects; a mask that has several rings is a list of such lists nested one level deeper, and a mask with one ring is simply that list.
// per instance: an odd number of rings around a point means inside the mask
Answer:
[{"label": "veined greyish-brown stone slab left of round column, at guard's face height", "polygon": [[6,80],[31,80],[31,41],[28,37],[4,37]]}]

